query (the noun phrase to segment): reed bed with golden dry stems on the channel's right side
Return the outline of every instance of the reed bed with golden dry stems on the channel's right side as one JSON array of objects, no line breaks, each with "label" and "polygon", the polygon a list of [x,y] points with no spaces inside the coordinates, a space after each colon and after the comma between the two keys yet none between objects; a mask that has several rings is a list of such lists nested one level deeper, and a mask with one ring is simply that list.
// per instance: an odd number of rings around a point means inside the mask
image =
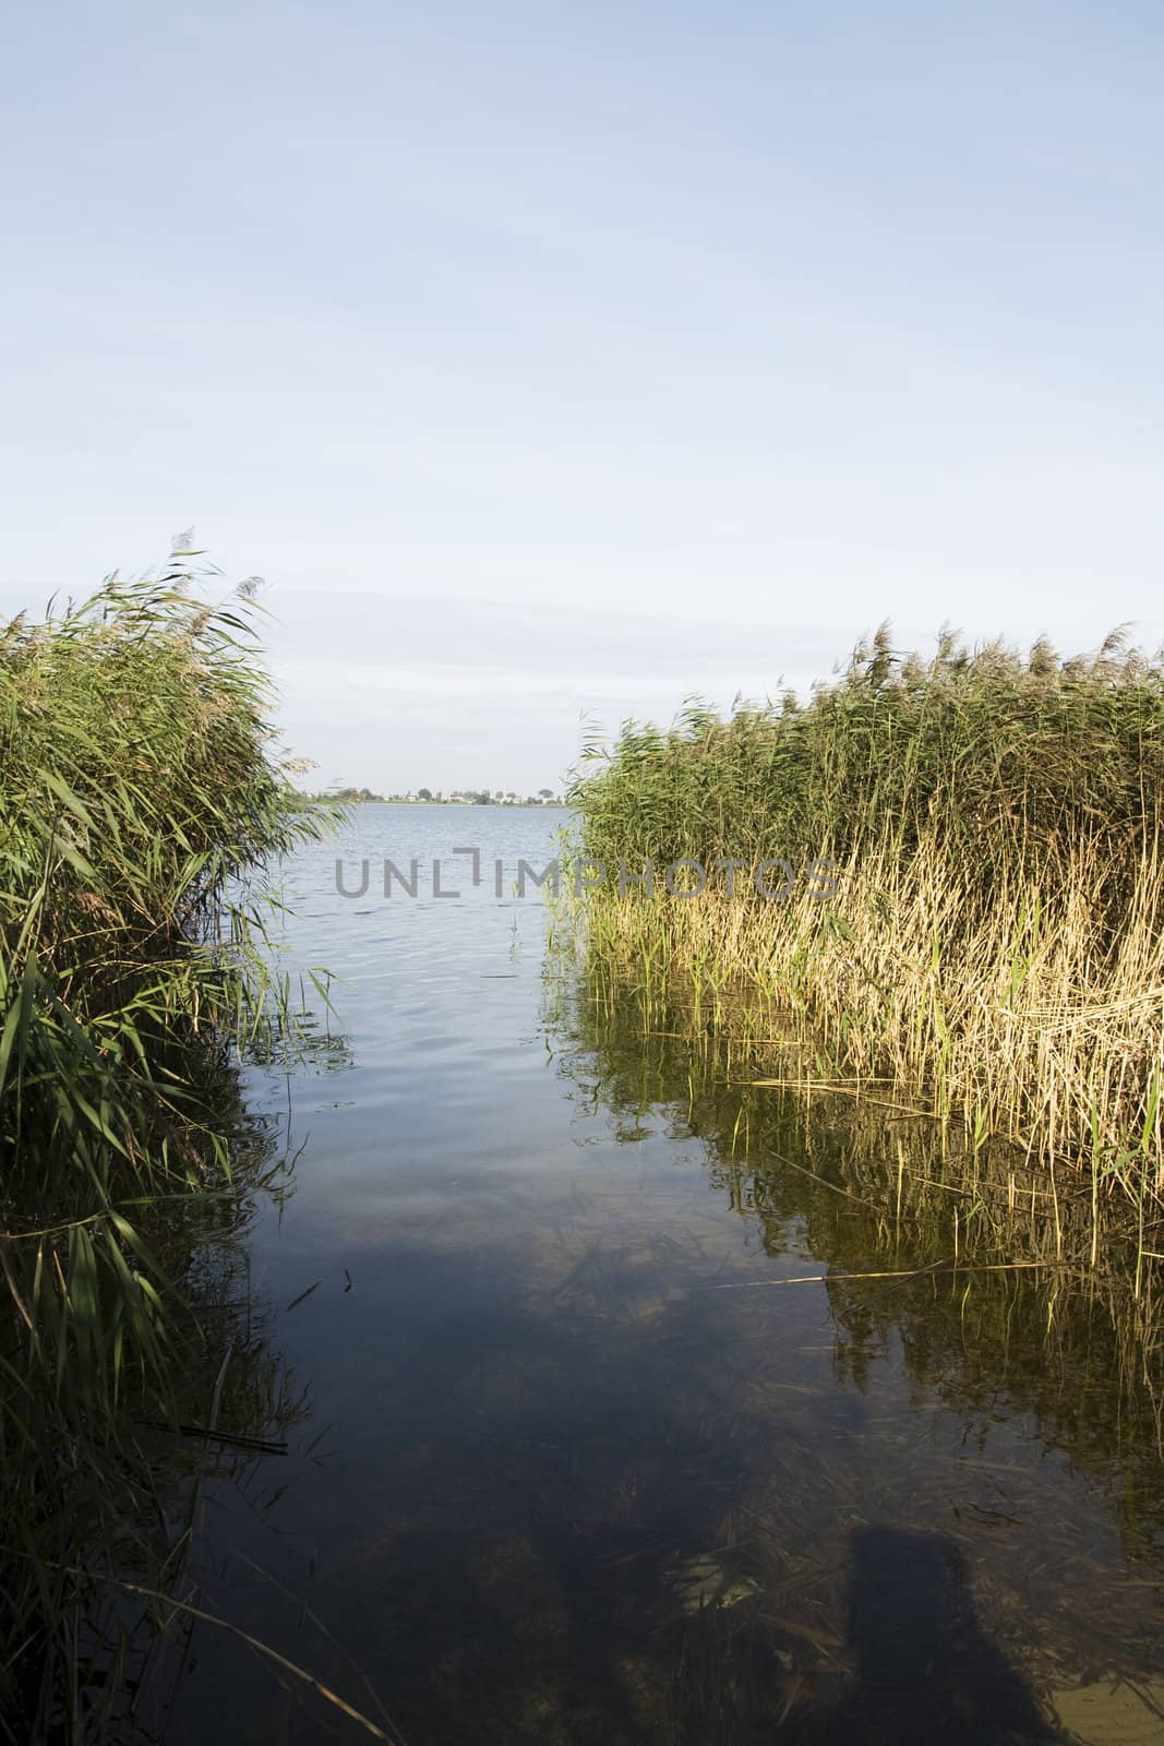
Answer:
[{"label": "reed bed with golden dry stems on the channel's right side", "polygon": [[[1049,1177],[1117,1187],[1143,1231],[1164,1187],[1164,663],[1117,632],[930,662],[887,627],[808,702],[628,723],[571,789],[579,854],[630,873],[686,857],[702,896],[588,899],[592,948],[700,999],[782,1000],[831,1072],[1002,1135]],[[764,901],[719,859],[785,857]],[[836,894],[810,876],[834,863]],[[770,876],[778,889],[782,873]],[[1159,1245],[1157,1245],[1159,1247]],[[1148,1238],[1141,1243],[1147,1252]]]}]

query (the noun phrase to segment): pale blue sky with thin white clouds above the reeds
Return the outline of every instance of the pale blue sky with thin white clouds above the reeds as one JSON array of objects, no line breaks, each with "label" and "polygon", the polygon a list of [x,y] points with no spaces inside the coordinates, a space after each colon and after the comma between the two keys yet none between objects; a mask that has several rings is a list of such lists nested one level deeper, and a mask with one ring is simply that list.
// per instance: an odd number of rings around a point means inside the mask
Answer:
[{"label": "pale blue sky with thin white clouds above the reeds", "polygon": [[9,9],[0,615],[187,527],[319,786],[1164,641],[1164,9]]}]

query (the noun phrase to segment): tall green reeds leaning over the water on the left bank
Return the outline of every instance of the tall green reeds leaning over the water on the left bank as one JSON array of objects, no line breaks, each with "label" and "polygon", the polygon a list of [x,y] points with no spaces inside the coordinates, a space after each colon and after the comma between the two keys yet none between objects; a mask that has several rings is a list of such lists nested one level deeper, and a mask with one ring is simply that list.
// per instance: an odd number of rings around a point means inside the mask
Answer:
[{"label": "tall green reeds leaning over the water on the left bank", "polygon": [[42,623],[0,625],[0,1716],[12,1739],[89,1739],[120,1713],[150,1612],[126,1580],[166,1591],[181,1563],[159,1472],[169,1451],[169,1470],[188,1474],[190,1453],[168,1428],[195,1418],[213,1433],[232,1399],[239,1447],[286,1421],[277,1386],[257,1386],[253,1341],[229,1316],[204,1320],[237,1306],[206,1240],[237,1231],[270,1179],[236,1074],[239,1051],[277,1048],[291,1020],[257,875],[319,836],[328,812],[279,761],[253,588],[208,604],[194,557],[113,578]]}]

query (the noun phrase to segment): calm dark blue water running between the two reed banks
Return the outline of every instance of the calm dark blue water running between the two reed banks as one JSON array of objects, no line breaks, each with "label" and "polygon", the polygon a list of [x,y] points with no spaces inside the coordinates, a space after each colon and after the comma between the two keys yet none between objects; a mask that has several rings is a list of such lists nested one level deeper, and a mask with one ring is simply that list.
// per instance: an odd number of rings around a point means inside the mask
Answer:
[{"label": "calm dark blue water running between the two reed banks", "polygon": [[[562,822],[365,807],[288,870],[291,960],[344,980],[319,1058],[253,1072],[300,1149],[250,1236],[300,1407],[204,1484],[201,1605],[408,1746],[1164,1741],[1157,1426],[1110,1323],[1052,1339],[1014,1278],[773,1285],[900,1233],[796,1168],[796,1110],[740,1128],[716,1039],[546,974],[508,892]],[[368,1737],[211,1626],[168,1680],[171,1746]]]}]

